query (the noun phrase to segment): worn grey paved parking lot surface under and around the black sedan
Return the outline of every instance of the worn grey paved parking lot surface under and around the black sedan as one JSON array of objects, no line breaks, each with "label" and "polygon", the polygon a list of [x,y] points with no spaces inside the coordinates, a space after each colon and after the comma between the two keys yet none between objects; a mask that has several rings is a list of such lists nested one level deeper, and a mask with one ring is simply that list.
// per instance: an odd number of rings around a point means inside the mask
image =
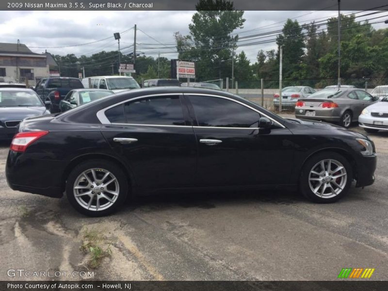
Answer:
[{"label": "worn grey paved parking lot surface under and around the black sedan", "polygon": [[371,137],[375,183],[334,204],[288,192],[181,193],[128,201],[102,218],[81,216],[65,197],[12,191],[2,143],[0,280],[44,279],[9,278],[8,269],[88,270],[80,246],[90,230],[112,251],[97,280],[336,280],[344,267],[387,280],[388,132]]}]

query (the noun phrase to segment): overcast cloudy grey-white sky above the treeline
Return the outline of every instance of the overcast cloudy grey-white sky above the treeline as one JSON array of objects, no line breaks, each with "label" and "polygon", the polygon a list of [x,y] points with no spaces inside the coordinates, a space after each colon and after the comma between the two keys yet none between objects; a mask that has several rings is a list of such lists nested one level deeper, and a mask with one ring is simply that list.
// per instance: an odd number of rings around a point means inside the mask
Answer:
[{"label": "overcast cloudy grey-white sky above the treeline", "polygon": [[[74,53],[81,56],[101,50],[117,49],[113,32],[120,32],[121,50],[123,53],[129,53],[133,51],[134,30],[131,28],[136,23],[138,53],[153,57],[161,53],[161,56],[171,59],[178,56],[174,52],[176,50],[174,32],[188,34],[188,25],[194,13],[194,11],[0,11],[0,42],[16,43],[19,39],[20,43],[26,44],[37,53],[47,49],[53,54]],[[240,36],[270,32],[280,30],[287,18],[295,18],[302,24],[335,15],[336,11],[246,11],[244,27],[235,32]],[[371,16],[359,17],[357,21],[367,17]],[[371,22],[384,20],[385,18],[379,18]],[[373,26],[376,29],[387,27],[381,23]],[[273,38],[274,36],[259,40]],[[101,39],[105,40],[98,41]],[[90,42],[95,43],[83,45]],[[256,62],[256,55],[260,49],[275,48],[273,42],[240,47],[237,53],[244,50],[250,61]]]}]

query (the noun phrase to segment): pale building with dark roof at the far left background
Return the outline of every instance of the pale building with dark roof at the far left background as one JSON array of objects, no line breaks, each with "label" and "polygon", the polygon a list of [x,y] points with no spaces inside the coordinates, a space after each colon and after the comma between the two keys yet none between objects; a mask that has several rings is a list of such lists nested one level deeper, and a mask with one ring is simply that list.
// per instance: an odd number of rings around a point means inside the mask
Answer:
[{"label": "pale building with dark roof at the far left background", "polygon": [[0,82],[13,81],[35,85],[49,77],[46,54],[32,52],[26,45],[0,43]]}]

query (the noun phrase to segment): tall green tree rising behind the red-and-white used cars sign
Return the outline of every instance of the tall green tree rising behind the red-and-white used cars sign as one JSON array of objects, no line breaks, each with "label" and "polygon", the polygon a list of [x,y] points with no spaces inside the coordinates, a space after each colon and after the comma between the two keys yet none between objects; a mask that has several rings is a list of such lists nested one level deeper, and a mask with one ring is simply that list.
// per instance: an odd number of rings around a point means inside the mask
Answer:
[{"label": "tall green tree rising behind the red-and-white used cars sign", "polygon": [[179,58],[195,61],[197,79],[230,76],[232,50],[238,35],[230,35],[242,28],[243,11],[234,10],[227,0],[199,0],[196,13],[189,24],[190,35],[175,34]]}]

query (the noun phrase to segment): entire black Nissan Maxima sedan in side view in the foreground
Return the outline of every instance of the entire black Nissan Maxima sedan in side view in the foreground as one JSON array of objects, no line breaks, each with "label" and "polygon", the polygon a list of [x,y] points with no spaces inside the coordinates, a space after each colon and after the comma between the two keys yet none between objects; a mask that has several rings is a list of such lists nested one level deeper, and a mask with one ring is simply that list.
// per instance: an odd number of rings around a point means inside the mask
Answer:
[{"label": "entire black Nissan Maxima sedan in side view in the foreground", "polygon": [[333,202],[374,181],[366,136],[283,119],[226,92],[160,87],[119,93],[56,116],[25,119],[6,176],[14,190],[61,197],[105,215],[131,194],[300,189]]}]

